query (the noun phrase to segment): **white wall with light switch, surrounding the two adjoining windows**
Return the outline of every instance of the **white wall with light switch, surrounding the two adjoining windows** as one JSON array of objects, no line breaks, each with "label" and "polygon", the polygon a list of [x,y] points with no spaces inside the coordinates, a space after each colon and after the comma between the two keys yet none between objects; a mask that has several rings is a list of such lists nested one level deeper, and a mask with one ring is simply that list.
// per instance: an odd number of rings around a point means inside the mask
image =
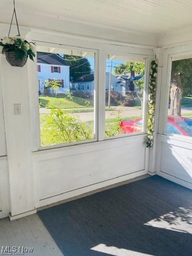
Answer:
[{"label": "white wall with light switch, surrounding the two adjoining windows", "polygon": [[[81,46],[84,50],[97,49],[95,83],[99,96],[95,98],[98,106],[95,116],[98,120],[99,141],[39,150],[36,60],[34,63],[28,60],[23,68],[14,68],[6,62],[5,56],[0,56],[8,155],[0,166],[5,181],[0,191],[0,207],[4,209],[0,218],[9,211],[12,218],[32,214],[38,206],[140,176],[148,171],[148,150],[144,134],[104,140],[103,84],[106,84],[106,54],[137,54],[151,59],[152,49],[113,45],[99,40],[91,42],[84,38],[72,39],[58,34],[55,34],[53,44],[53,34],[41,32],[29,32],[27,38],[43,41],[36,42],[40,46],[46,44],[58,47],[59,43],[65,49]],[[21,115],[14,115],[15,103],[21,104]],[[5,187],[8,191],[2,192]]]}]

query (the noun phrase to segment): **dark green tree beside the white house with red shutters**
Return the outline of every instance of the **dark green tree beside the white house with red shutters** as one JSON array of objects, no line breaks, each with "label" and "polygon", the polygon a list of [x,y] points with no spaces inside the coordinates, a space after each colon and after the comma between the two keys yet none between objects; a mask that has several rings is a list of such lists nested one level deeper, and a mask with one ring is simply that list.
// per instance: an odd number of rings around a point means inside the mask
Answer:
[{"label": "dark green tree beside the white house with red shutters", "polygon": [[91,66],[87,58],[72,55],[64,55],[63,58],[67,59],[67,63],[70,65],[69,74],[70,77],[72,77],[72,80],[76,80],[80,76],[92,73]]}]

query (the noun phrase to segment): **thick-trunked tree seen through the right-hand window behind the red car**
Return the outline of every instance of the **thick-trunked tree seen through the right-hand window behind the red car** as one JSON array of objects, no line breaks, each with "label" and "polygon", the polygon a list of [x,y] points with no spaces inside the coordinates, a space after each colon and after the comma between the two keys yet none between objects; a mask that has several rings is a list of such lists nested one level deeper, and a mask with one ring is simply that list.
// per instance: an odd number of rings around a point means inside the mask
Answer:
[{"label": "thick-trunked tree seen through the right-hand window behind the red car", "polygon": [[170,80],[170,115],[181,116],[183,95],[192,90],[192,58],[172,61]]}]

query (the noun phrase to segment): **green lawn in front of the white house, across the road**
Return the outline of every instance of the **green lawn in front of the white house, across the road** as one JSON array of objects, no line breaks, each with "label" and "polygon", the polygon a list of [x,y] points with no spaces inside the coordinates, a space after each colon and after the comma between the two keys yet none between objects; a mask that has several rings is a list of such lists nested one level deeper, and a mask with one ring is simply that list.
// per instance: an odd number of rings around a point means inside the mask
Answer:
[{"label": "green lawn in front of the white house, across the road", "polygon": [[42,108],[88,108],[93,107],[92,100],[87,100],[79,97],[69,98],[54,98],[48,96],[39,96],[39,104]]}]

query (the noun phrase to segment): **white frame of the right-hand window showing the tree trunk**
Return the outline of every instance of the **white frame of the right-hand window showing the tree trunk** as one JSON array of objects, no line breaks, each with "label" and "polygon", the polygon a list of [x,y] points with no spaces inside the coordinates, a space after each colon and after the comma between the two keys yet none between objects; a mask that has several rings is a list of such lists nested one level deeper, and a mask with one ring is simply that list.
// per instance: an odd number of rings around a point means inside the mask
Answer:
[{"label": "white frame of the right-hand window showing the tree trunk", "polygon": [[[182,47],[185,49],[186,47]],[[188,47],[187,47],[188,48]],[[175,138],[178,140],[182,140],[185,142],[192,143],[192,137],[184,136],[182,134],[170,134],[166,132],[167,126],[167,116],[168,116],[168,104],[169,104],[169,95],[170,95],[170,78],[171,78],[171,68],[172,68],[172,59],[185,59],[185,58],[192,58],[192,51],[186,51],[180,48],[180,52],[172,53],[172,51],[177,51],[176,49],[167,50],[167,54],[164,55],[164,72],[163,76],[164,79],[162,80],[162,88],[161,88],[161,99],[160,99],[160,121],[159,121],[159,134],[163,134],[168,136],[168,138]]]}]

